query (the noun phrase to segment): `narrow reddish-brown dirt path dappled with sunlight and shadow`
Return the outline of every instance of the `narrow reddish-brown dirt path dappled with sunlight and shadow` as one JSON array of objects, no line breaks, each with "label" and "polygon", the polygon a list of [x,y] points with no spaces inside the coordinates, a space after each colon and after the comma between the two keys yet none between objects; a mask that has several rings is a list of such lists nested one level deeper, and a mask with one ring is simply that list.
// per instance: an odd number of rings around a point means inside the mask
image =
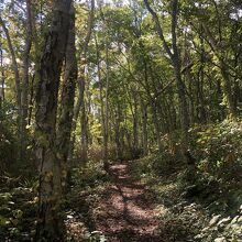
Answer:
[{"label": "narrow reddish-brown dirt path dappled with sunlight and shadow", "polygon": [[162,241],[145,187],[129,174],[130,163],[110,167],[113,184],[100,201],[96,229],[110,242]]}]

